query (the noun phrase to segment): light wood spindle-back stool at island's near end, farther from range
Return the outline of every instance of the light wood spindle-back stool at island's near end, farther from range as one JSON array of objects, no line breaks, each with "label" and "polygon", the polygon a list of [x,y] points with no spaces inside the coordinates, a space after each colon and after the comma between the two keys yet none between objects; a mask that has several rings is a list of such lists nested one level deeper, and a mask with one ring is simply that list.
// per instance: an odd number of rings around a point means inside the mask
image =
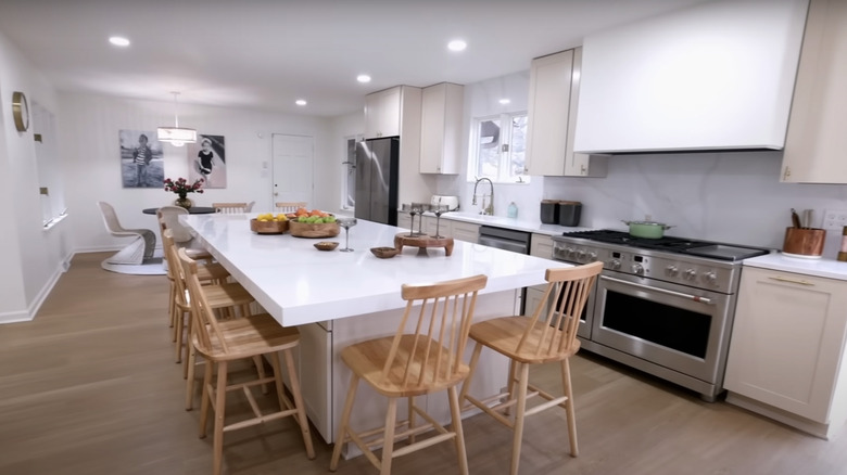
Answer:
[{"label": "light wood spindle-back stool at island's near end, farther from range", "polygon": [[[330,471],[338,468],[341,449],[349,440],[362,449],[382,475],[391,473],[391,462],[396,457],[453,440],[458,454],[459,471],[463,474],[468,473],[456,386],[465,380],[469,371],[462,358],[477,293],[486,282],[485,275],[476,275],[429,285],[403,285],[401,295],[406,300],[406,309],[396,334],[358,343],[341,351],[341,358],[350,367],[353,377],[341,415]],[[414,328],[415,333],[404,334],[407,328]],[[364,380],[377,393],[388,397],[383,427],[364,432],[354,432],[350,427],[350,415],[359,380]],[[431,395],[444,389],[447,390],[453,419],[451,431],[416,406],[414,400],[416,396]],[[408,419],[399,423],[397,398],[408,398]],[[417,425],[416,415],[420,415],[427,423]],[[404,426],[405,431],[396,432]],[[432,428],[438,432],[437,435],[415,440],[416,435]],[[404,437],[408,437],[409,445],[395,451],[394,441]],[[377,459],[372,451],[379,445],[382,446],[381,460]]]}]

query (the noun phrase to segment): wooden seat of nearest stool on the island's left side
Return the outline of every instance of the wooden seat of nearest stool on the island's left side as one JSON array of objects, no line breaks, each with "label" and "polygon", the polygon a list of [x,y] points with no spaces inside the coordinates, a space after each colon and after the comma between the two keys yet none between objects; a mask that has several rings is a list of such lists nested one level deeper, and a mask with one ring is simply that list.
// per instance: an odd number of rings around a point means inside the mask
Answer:
[{"label": "wooden seat of nearest stool on the island's left side", "polygon": [[215,361],[229,361],[251,358],[258,355],[281,351],[298,346],[300,332],[293,326],[282,326],[268,313],[258,313],[219,322],[229,352],[220,347],[220,341],[215,332],[210,332],[212,351],[195,348],[203,356]]}]

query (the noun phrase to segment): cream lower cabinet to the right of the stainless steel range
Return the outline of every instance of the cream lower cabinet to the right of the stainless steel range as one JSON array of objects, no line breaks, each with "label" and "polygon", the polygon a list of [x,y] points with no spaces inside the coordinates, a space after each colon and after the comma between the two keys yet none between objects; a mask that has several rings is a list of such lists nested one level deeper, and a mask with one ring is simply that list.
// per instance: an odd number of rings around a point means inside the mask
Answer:
[{"label": "cream lower cabinet to the right of the stainless steel range", "polygon": [[829,438],[847,416],[847,281],[745,266],[728,402]]}]

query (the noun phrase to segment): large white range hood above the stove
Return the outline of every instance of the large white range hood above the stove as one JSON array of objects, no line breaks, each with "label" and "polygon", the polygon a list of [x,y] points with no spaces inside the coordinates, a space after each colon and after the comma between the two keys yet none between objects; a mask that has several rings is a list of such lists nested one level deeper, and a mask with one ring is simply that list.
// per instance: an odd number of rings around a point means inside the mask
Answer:
[{"label": "large white range hood above the stove", "polygon": [[585,37],[574,150],[781,150],[807,8],[718,0]]}]

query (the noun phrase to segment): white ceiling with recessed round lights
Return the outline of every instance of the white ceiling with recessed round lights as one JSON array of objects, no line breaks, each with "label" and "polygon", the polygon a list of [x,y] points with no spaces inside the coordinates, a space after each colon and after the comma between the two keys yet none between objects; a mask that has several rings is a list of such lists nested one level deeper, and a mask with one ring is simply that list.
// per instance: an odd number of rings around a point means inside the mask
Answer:
[{"label": "white ceiling with recessed round lights", "polygon": [[[0,31],[59,90],[336,116],[401,84],[524,70],[591,31],[703,1],[0,0]],[[447,51],[454,38],[468,49]]]}]

